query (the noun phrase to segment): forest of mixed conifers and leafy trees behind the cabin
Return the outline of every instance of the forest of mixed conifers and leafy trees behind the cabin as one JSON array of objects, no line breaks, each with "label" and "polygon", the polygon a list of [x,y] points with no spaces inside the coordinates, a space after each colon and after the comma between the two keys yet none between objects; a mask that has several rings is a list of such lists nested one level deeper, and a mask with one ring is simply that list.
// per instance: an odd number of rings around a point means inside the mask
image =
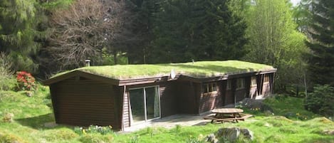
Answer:
[{"label": "forest of mixed conifers and leafy trees behind the cabin", "polygon": [[85,65],[246,60],[273,65],[276,92],[334,85],[334,4],[326,0],[3,0],[5,81]]}]

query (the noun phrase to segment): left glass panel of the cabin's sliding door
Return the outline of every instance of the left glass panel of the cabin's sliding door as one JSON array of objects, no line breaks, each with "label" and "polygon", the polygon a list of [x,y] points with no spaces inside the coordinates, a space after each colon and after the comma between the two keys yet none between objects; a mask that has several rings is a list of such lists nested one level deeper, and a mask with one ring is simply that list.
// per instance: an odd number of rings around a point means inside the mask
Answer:
[{"label": "left glass panel of the cabin's sliding door", "polygon": [[144,89],[129,90],[133,122],[145,121]]}]

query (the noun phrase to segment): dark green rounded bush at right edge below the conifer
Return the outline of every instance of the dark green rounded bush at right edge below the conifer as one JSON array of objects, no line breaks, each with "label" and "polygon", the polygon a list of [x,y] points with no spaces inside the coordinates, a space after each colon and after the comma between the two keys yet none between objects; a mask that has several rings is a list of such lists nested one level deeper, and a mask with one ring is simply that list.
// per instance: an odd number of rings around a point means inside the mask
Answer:
[{"label": "dark green rounded bush at right edge below the conifer", "polygon": [[334,116],[334,88],[330,85],[315,85],[313,92],[306,97],[307,110],[325,115]]}]

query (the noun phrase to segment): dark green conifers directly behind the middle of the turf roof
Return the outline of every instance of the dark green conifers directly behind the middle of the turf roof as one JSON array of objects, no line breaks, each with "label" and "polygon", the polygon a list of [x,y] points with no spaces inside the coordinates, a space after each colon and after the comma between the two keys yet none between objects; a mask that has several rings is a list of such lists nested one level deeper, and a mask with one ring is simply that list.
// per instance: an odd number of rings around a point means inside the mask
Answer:
[{"label": "dark green conifers directly behind the middle of the turf roof", "polygon": [[151,63],[241,58],[246,23],[227,1],[163,1],[153,29]]}]

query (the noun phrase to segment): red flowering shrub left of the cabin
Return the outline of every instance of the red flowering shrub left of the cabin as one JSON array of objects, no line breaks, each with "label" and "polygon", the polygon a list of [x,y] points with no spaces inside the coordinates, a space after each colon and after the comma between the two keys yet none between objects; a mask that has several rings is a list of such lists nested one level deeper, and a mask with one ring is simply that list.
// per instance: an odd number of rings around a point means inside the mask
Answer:
[{"label": "red flowering shrub left of the cabin", "polygon": [[19,90],[33,91],[36,90],[35,78],[31,73],[25,71],[16,72],[16,80],[18,83]]}]

